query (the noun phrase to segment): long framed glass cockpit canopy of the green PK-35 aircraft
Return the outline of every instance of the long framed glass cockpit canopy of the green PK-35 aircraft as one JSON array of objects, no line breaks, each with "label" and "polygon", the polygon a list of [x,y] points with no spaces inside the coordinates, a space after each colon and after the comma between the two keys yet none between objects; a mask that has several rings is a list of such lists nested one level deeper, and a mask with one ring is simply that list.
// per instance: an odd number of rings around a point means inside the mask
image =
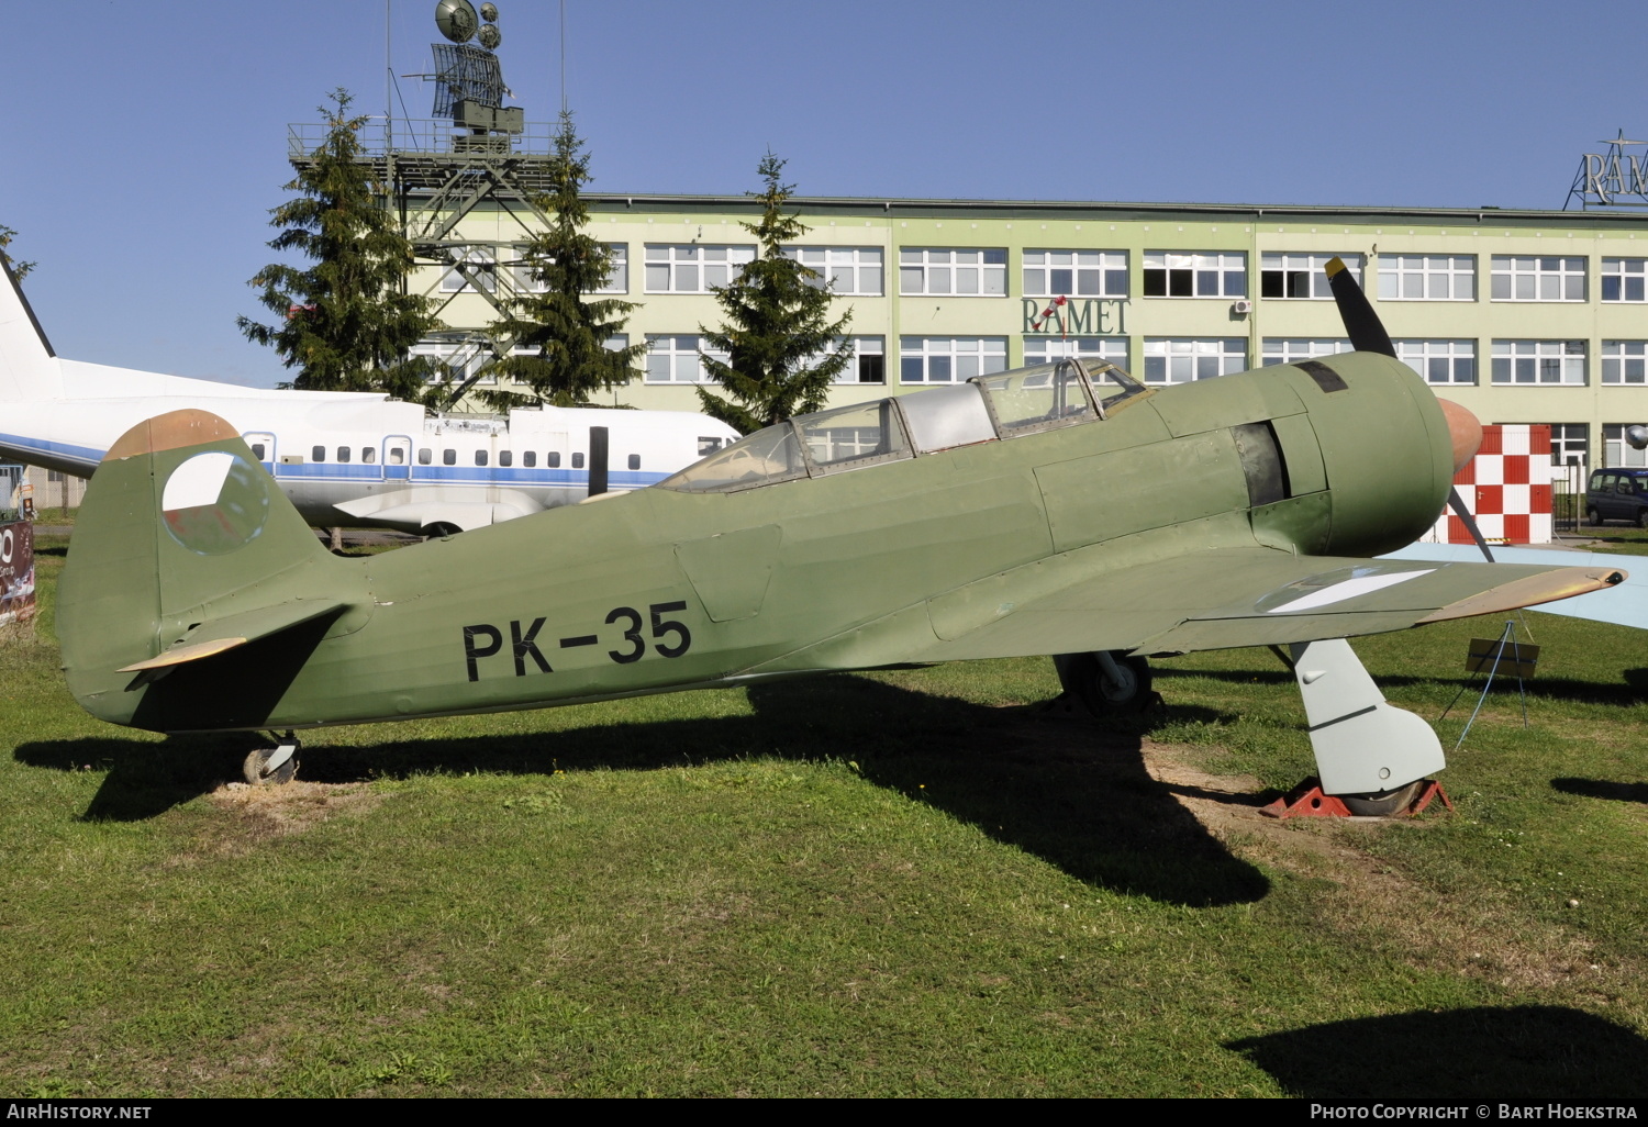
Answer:
[{"label": "long framed glass cockpit canopy of the green PK-35 aircraft", "polygon": [[1079,359],[974,376],[966,384],[798,415],[664,478],[658,488],[737,493],[821,478],[1101,420],[1144,390],[1114,364],[1089,371]]}]

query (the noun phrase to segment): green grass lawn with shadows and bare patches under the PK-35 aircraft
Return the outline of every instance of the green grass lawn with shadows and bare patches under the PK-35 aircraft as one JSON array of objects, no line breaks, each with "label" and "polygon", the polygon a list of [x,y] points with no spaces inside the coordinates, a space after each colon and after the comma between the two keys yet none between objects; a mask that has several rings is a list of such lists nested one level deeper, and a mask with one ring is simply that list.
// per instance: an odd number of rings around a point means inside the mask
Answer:
[{"label": "green grass lawn with shadows and bare patches under the PK-35 aircraft", "polygon": [[[335,728],[249,791],[68,697],[61,550],[0,646],[8,1096],[1648,1094],[1640,633],[1526,615],[1529,728],[1496,685],[1412,822],[1257,817],[1312,771],[1264,651],[1131,725],[974,662]],[[1355,644],[1434,718],[1501,624]]]}]

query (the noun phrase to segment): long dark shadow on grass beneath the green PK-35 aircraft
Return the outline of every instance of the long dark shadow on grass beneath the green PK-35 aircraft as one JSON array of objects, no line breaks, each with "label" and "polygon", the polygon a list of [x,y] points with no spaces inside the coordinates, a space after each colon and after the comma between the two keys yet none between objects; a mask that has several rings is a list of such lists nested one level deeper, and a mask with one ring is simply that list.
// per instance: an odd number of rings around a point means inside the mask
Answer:
[{"label": "long dark shadow on grass beneath the green PK-35 aircraft", "polygon": [[[780,756],[842,760],[872,783],[934,806],[1078,880],[1177,905],[1261,900],[1266,877],[1233,857],[1144,768],[1140,737],[1030,708],[989,708],[868,677],[770,682],[748,690],[753,717],[662,720],[531,735],[325,746],[311,733],[300,778],[356,783],[415,773],[649,769]],[[1175,708],[1173,718],[1216,718]],[[15,758],[107,769],[84,817],[155,817],[237,778],[255,737],[26,743]],[[1218,796],[1231,801],[1233,796]]]}]

